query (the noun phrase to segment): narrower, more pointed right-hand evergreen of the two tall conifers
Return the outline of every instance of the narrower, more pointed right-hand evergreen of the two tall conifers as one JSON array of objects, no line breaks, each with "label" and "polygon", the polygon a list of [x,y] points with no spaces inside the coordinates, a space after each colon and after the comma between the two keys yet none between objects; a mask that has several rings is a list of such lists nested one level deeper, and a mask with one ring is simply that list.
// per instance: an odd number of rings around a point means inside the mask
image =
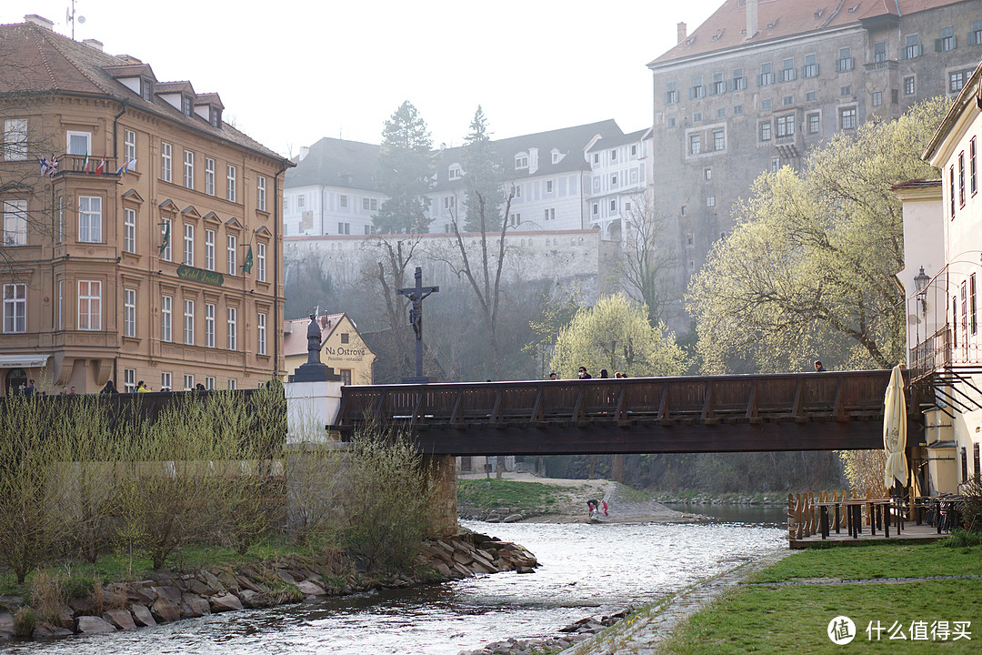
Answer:
[{"label": "narrower, more pointed right-hand evergreen of the two tall conifers", "polygon": [[[501,216],[503,167],[491,145],[491,133],[484,111],[477,105],[470,132],[464,139],[464,181],[466,182],[467,214],[464,230],[486,232],[497,230]],[[483,200],[483,211],[481,211]]]}]

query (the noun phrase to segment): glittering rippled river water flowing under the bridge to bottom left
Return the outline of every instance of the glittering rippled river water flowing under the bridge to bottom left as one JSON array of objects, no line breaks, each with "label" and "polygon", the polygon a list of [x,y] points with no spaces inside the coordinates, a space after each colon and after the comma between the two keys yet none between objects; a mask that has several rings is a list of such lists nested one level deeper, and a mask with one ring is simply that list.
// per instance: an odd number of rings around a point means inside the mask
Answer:
[{"label": "glittering rippled river water flowing under the bridge to bottom left", "polygon": [[482,523],[539,561],[535,573],[494,573],[189,619],[155,628],[0,643],[0,651],[72,655],[168,653],[457,655],[508,637],[555,633],[585,616],[651,601],[776,548],[783,509],[688,508],[699,523]]}]

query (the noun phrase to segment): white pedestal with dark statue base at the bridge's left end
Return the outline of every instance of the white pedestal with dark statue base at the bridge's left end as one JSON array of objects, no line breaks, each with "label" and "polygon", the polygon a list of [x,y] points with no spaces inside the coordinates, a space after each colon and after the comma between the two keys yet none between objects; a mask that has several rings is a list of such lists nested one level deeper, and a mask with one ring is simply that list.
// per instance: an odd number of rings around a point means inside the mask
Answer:
[{"label": "white pedestal with dark statue base at the bridge's left end", "polygon": [[333,441],[326,426],[341,407],[341,376],[324,364],[300,365],[284,385],[287,396],[287,443]]}]

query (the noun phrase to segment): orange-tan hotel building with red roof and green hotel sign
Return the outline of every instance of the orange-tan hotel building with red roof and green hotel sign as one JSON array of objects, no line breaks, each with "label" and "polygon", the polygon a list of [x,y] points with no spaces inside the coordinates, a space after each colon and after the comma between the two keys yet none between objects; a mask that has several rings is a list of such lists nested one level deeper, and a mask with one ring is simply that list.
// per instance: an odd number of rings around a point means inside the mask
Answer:
[{"label": "orange-tan hotel building with red roof and green hotel sign", "polygon": [[4,393],[281,373],[292,164],[225,123],[217,93],[26,21],[0,26]]}]

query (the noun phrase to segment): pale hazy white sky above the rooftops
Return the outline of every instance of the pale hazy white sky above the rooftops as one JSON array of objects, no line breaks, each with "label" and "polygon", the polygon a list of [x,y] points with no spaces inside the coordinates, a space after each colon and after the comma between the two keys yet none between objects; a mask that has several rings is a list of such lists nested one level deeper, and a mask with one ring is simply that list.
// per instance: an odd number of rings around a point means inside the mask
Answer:
[{"label": "pale hazy white sky above the rooftops", "polygon": [[[377,143],[409,100],[434,144],[458,145],[477,105],[494,137],[613,118],[652,120],[646,64],[723,0],[77,0],[77,40],[130,54],[157,80],[217,92],[225,118],[281,154],[322,136]],[[70,36],[71,0],[3,0]]]}]

